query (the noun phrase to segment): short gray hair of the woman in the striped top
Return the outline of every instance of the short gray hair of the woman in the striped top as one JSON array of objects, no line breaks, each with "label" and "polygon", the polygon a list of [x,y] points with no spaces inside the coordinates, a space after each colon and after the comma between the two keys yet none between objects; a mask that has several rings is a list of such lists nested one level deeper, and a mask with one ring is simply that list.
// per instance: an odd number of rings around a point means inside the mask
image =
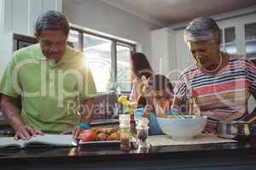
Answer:
[{"label": "short gray hair of the woman in the striped top", "polygon": [[220,43],[220,29],[212,18],[199,17],[192,20],[184,31],[185,42],[214,40]]}]

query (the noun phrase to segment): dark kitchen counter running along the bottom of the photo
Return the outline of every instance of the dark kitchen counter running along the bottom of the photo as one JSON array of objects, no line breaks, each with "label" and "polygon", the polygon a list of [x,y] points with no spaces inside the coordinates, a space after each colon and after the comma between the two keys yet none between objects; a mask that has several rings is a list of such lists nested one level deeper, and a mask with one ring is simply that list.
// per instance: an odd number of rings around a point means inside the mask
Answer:
[{"label": "dark kitchen counter running along the bottom of the photo", "polygon": [[[1,169],[256,169],[256,137],[225,144],[119,150],[118,144],[0,150]],[[3,167],[3,168],[2,168]]]}]

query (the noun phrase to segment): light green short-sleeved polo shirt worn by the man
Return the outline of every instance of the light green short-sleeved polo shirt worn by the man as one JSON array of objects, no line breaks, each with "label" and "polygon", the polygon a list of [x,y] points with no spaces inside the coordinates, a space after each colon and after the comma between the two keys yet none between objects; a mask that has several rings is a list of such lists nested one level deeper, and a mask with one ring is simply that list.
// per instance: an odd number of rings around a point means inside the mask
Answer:
[{"label": "light green short-sleeved polo shirt worn by the man", "polygon": [[[96,96],[84,55],[67,47],[54,64],[39,44],[16,51],[0,82],[0,93],[21,96],[21,118],[48,133],[61,133],[80,122],[79,101]],[[78,111],[79,110],[79,111]]]}]

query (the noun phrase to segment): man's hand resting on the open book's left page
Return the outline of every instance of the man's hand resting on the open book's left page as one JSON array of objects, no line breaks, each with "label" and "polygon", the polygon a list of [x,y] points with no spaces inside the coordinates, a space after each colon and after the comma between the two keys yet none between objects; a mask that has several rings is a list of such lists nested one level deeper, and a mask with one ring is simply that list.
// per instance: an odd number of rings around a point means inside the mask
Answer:
[{"label": "man's hand resting on the open book's left page", "polygon": [[23,139],[28,140],[31,139],[32,136],[36,135],[44,135],[44,133],[38,129],[35,129],[30,126],[22,126],[16,129],[15,131],[15,140]]}]

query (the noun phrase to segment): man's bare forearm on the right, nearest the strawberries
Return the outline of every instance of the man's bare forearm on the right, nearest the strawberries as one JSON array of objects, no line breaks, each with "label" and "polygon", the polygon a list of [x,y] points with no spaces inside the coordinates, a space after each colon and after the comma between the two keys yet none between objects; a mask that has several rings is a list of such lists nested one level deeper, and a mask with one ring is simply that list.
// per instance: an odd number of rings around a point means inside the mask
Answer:
[{"label": "man's bare forearm on the right, nearest the strawberries", "polygon": [[95,108],[95,99],[86,99],[81,103],[82,111],[81,111],[81,122],[86,124],[90,124],[94,108]]}]

